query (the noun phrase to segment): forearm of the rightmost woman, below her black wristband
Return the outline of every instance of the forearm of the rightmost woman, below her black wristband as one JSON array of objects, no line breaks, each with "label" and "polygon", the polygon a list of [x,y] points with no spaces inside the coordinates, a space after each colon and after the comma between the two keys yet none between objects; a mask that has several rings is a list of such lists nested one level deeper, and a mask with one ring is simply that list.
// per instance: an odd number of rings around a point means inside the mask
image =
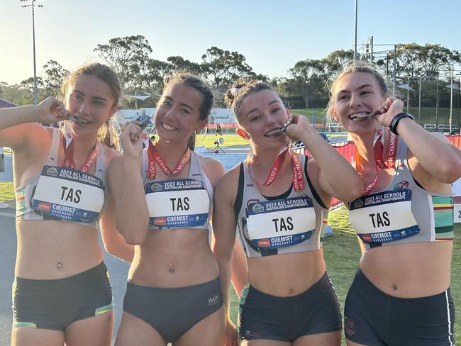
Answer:
[{"label": "forearm of the rightmost woman, below her black wristband", "polygon": [[435,138],[410,118],[402,118],[396,130],[418,163],[435,179],[451,183],[460,178],[460,150]]}]

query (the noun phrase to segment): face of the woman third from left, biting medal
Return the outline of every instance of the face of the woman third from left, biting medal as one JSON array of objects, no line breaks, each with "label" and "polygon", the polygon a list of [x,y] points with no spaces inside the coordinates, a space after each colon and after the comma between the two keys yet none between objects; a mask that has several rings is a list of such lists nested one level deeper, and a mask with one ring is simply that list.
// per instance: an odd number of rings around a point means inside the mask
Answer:
[{"label": "face of the woman third from left, biting medal", "polygon": [[265,89],[249,94],[238,111],[238,123],[258,147],[284,146],[287,136],[277,130],[288,121],[288,112],[280,97]]}]

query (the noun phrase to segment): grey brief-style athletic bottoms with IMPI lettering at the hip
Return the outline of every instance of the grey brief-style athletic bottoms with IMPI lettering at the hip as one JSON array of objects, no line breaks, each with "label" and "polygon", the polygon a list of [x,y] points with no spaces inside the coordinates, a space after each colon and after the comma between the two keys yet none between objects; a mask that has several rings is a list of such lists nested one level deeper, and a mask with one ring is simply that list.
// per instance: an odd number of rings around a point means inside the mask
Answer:
[{"label": "grey brief-style athletic bottoms with IMPI lettering at the hip", "polygon": [[162,335],[175,342],[196,323],[223,306],[221,281],[187,287],[157,288],[126,285],[123,311],[140,318]]}]

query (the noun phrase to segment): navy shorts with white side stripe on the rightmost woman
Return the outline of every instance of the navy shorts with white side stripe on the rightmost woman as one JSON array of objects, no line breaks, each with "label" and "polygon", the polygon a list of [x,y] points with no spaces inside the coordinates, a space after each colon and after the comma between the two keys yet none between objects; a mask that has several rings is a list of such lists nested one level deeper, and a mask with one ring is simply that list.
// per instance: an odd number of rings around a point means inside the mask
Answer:
[{"label": "navy shorts with white side stripe on the rightmost woman", "polygon": [[359,268],[345,301],[345,337],[362,345],[455,345],[450,289],[423,298],[380,291]]}]

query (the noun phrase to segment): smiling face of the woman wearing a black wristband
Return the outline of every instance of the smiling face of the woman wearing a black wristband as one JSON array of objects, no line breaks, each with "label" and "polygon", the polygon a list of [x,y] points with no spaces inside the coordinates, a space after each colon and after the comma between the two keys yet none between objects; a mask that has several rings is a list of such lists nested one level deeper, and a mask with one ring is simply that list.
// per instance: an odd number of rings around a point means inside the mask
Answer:
[{"label": "smiling face of the woman wearing a black wristband", "polygon": [[376,122],[371,117],[386,100],[386,94],[373,74],[351,72],[338,80],[333,89],[333,115],[350,133],[374,131]]}]

